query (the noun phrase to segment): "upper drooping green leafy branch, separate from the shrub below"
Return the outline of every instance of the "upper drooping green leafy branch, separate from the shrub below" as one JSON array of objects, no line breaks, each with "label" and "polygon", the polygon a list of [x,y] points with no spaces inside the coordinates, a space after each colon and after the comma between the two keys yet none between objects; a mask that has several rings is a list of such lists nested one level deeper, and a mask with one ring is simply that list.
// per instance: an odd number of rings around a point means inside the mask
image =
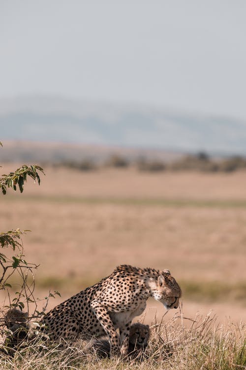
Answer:
[{"label": "upper drooping green leafy branch, separate from the shrub below", "polygon": [[2,175],[0,178],[0,187],[2,193],[5,195],[7,187],[12,187],[16,191],[16,185],[19,186],[20,192],[24,190],[24,183],[27,181],[28,176],[30,176],[34,182],[37,180],[38,185],[40,185],[40,177],[37,171],[42,172],[44,175],[44,170],[42,167],[37,165],[27,166],[24,164],[18,168],[15,172],[10,172],[8,175]]}]

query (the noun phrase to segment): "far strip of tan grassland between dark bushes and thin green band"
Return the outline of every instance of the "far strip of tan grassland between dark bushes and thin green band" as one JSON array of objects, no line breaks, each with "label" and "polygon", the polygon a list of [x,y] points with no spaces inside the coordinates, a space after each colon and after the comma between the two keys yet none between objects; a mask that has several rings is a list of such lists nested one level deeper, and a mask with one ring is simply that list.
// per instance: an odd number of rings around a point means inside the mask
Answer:
[{"label": "far strip of tan grassland between dark bushes and thin green band", "polygon": [[[13,171],[18,166],[6,164],[1,173]],[[44,169],[46,176],[42,176],[40,188],[29,182],[23,196],[246,201],[246,171],[146,173],[134,168],[103,168],[85,173],[64,168]]]}]

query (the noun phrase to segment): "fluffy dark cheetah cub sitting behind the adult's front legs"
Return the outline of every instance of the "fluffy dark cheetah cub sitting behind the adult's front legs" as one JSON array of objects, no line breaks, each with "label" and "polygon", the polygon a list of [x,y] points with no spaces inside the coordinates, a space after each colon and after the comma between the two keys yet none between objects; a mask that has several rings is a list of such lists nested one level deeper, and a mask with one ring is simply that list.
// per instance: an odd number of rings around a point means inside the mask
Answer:
[{"label": "fluffy dark cheetah cub sitting behind the adult's front legs", "polygon": [[[149,325],[135,323],[130,326],[128,356],[136,356],[147,347],[150,337]],[[110,344],[105,339],[94,339],[89,345],[89,350],[93,349],[97,356],[107,358],[110,355]]]}]

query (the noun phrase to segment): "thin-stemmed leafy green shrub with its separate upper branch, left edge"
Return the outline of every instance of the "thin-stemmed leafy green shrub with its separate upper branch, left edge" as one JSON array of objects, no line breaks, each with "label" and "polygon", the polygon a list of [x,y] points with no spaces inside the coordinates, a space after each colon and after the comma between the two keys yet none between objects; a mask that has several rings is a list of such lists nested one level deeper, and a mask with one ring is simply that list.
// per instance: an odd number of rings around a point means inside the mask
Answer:
[{"label": "thin-stemmed leafy green shrub with its separate upper branch, left edge", "polygon": [[[0,147],[2,147],[1,142]],[[38,185],[40,185],[40,177],[38,172],[44,174],[42,167],[37,165],[23,165],[15,172],[10,172],[8,175],[2,175],[0,177],[0,189],[2,193],[6,194],[7,188],[10,187],[16,191],[17,186],[19,186],[20,192],[22,193],[24,189],[24,184],[27,181],[28,176],[31,177],[34,182],[37,181]],[[33,304],[35,305],[32,317],[37,318],[41,317],[44,314],[49,298],[60,295],[60,293],[56,291],[54,292],[54,294],[49,293],[49,295],[44,298],[46,303],[43,307],[43,310],[41,312],[37,311],[37,302],[40,301],[40,299],[36,299],[34,296],[34,272],[38,268],[38,265],[34,263],[29,263],[25,260],[22,236],[23,234],[26,234],[27,231],[30,230],[21,231],[18,228],[16,230],[12,229],[10,231],[0,233],[0,290],[5,291],[9,300],[9,304],[4,305],[3,311],[5,309],[15,307],[22,310],[25,306],[27,306],[29,315],[29,305],[31,303],[32,309]],[[7,250],[6,254],[2,253],[3,248]],[[11,250],[14,252],[13,256],[12,252],[10,252]],[[16,290],[16,286],[18,287],[18,291],[15,292],[15,297],[12,299],[13,292]],[[0,326],[4,326],[4,323],[4,318],[0,319]]]}]

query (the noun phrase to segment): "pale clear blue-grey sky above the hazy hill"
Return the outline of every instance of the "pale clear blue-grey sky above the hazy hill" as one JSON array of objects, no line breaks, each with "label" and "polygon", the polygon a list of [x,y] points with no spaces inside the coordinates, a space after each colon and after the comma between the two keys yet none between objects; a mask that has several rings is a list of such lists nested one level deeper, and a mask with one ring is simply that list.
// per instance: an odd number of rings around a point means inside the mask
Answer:
[{"label": "pale clear blue-grey sky above the hazy hill", "polygon": [[0,0],[0,97],[246,119],[245,0]]}]

